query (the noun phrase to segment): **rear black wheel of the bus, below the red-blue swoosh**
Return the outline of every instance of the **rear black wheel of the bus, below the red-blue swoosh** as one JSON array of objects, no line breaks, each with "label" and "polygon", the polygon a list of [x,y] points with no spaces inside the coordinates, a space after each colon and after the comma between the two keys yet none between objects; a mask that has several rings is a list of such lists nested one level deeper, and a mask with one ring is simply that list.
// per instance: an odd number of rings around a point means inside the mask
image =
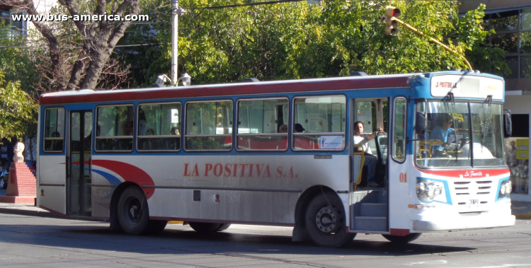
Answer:
[{"label": "rear black wheel of the bus, below the red-blue swoosh", "polygon": [[149,223],[149,209],[146,195],[139,187],[128,187],[118,200],[118,222],[128,235],[139,235],[146,231]]}]

